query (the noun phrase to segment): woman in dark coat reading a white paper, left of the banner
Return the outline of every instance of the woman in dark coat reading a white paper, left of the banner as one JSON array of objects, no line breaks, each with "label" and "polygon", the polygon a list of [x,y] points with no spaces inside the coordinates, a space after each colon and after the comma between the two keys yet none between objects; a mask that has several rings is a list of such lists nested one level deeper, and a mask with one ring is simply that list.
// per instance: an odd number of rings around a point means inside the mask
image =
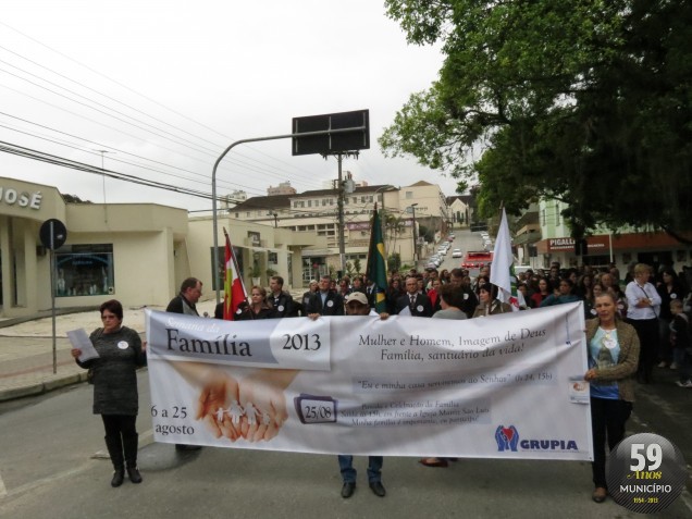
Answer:
[{"label": "woman in dark coat reading a white paper, left of the banner", "polygon": [[[81,348],[72,356],[82,368],[94,372],[94,413],[101,415],[106,428],[106,446],[115,469],[111,486],[120,486],[127,475],[133,483],[141,483],[137,468],[137,395],[136,369],[147,363],[141,339],[136,331],[123,326],[123,306],[111,299],[100,307],[102,328],[89,339],[97,358],[79,360]],[[126,467],[125,467],[126,464]]]}]

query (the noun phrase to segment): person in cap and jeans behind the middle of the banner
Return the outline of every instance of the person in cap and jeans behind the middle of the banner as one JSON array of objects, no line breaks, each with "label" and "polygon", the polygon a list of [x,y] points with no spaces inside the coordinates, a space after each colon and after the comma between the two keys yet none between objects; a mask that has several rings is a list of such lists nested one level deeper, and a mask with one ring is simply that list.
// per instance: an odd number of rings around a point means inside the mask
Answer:
[{"label": "person in cap and jeans behind the middle of the banner", "polygon": [[[385,320],[390,317],[388,313],[378,313],[374,309],[370,308],[368,302],[368,296],[362,292],[353,292],[346,297],[345,304],[347,316],[379,316],[380,319]],[[386,491],[382,484],[382,456],[368,456],[368,483],[370,490],[378,497],[384,497]],[[344,482],[342,486],[342,497],[344,499],[349,498],[356,491],[356,469],[354,468],[354,456],[350,454],[338,455],[338,468],[342,472],[342,480]]]}]

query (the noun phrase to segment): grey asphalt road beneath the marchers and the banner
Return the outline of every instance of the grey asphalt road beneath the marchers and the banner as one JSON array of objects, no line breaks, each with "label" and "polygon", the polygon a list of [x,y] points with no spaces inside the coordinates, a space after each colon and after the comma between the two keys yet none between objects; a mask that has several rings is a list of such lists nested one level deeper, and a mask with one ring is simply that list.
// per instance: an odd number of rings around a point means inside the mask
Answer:
[{"label": "grey asphalt road beneath the marchers and the banner", "polygon": [[[145,481],[120,489],[110,487],[102,424],[91,415],[91,386],[0,405],[0,518],[638,516],[611,501],[592,503],[590,465],[574,461],[461,459],[448,469],[430,469],[416,458],[387,457],[387,496],[379,498],[367,486],[366,459],[357,458],[356,494],[343,499],[335,456],[233,448],[181,456],[172,445],[152,443],[146,370],[139,387]],[[662,434],[689,461],[691,396],[668,382],[642,388],[628,432]],[[689,491],[654,517],[692,517]]]}]

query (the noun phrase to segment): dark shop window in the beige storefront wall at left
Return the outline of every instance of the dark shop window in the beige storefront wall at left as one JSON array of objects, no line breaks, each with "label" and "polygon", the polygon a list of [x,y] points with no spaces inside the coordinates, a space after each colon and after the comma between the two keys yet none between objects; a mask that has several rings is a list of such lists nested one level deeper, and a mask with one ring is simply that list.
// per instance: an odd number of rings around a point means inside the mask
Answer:
[{"label": "dark shop window in the beige storefront wall at left", "polygon": [[55,251],[55,297],[115,292],[113,245],[65,245]]}]

